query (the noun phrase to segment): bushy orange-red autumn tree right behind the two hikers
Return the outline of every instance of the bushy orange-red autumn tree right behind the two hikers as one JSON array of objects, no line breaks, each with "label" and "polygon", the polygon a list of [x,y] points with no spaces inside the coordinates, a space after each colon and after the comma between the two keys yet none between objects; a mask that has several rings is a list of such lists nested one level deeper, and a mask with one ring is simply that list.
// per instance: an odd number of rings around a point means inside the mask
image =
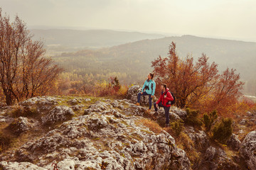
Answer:
[{"label": "bushy orange-red autumn tree right behind the two hikers", "polygon": [[207,106],[208,111],[213,111],[238,98],[242,89],[243,83],[234,69],[218,74],[218,65],[209,64],[205,54],[196,62],[189,55],[182,60],[174,42],[169,46],[168,57],[159,56],[151,63],[158,81],[168,84],[180,108]]}]

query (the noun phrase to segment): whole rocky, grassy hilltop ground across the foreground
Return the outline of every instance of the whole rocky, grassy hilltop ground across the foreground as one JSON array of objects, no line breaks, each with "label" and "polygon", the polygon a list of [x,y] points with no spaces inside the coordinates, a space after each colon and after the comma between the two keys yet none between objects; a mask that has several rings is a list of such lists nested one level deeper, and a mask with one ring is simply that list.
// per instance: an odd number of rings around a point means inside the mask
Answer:
[{"label": "whole rocky, grassy hilltop ground across the foreground", "polygon": [[[189,125],[176,137],[161,126],[163,110],[134,106],[138,89],[122,100],[43,96],[0,106],[0,169],[256,169],[255,130],[241,142],[231,135],[228,146]],[[172,107],[170,116],[187,113]]]}]

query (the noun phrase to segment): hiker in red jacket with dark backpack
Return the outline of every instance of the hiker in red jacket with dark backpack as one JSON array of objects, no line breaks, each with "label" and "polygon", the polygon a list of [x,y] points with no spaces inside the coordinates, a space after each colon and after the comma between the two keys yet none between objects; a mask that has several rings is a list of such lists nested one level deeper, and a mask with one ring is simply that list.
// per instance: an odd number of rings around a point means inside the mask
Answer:
[{"label": "hiker in red jacket with dark backpack", "polygon": [[161,84],[161,96],[156,103],[154,103],[154,109],[157,112],[158,107],[164,107],[164,112],[166,115],[166,127],[169,126],[169,111],[171,107],[171,102],[169,101],[174,101],[173,96],[171,96],[171,92],[167,88],[166,84]]}]

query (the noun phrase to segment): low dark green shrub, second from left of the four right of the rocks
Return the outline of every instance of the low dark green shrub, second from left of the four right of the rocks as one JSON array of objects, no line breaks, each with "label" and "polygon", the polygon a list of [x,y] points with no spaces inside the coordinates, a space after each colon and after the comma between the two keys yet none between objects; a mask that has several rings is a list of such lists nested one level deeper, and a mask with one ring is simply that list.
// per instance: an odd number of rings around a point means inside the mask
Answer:
[{"label": "low dark green shrub, second from left of the four right of the rocks", "polygon": [[189,108],[186,108],[186,113],[188,113],[185,123],[192,125],[193,127],[201,128],[203,124],[200,118],[198,118],[199,111],[191,111]]}]

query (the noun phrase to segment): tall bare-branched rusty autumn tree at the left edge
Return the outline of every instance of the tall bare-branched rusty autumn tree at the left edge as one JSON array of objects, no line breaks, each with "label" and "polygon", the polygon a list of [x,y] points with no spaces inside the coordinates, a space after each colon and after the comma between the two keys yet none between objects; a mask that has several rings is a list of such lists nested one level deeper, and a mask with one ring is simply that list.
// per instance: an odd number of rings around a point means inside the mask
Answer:
[{"label": "tall bare-branched rusty autumn tree at the left edge", "polygon": [[62,71],[44,57],[43,42],[31,38],[18,16],[11,23],[0,8],[0,85],[7,105],[46,94]]}]

